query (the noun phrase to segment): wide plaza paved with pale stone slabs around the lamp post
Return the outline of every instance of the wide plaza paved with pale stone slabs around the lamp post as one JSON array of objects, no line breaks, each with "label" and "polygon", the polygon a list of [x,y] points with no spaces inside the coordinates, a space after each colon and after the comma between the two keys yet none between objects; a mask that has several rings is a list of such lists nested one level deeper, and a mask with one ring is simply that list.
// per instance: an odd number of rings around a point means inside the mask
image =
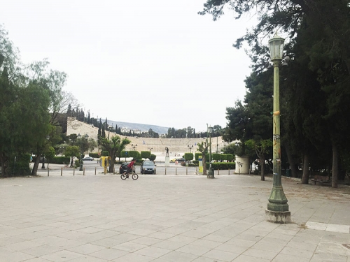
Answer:
[{"label": "wide plaza paved with pale stone slabs around the lamp post", "polygon": [[292,224],[265,221],[272,178],[83,175],[0,180],[0,261],[349,262],[350,187],[283,177]]}]

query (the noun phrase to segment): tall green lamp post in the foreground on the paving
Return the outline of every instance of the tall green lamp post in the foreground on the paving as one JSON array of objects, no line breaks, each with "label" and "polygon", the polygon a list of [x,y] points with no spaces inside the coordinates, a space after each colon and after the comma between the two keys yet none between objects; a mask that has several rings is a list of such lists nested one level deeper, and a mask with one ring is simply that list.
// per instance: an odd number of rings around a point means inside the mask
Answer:
[{"label": "tall green lamp post in the foreground on the paving", "polygon": [[290,223],[290,211],[288,211],[288,200],[283,192],[281,183],[281,133],[279,112],[279,65],[283,56],[284,38],[274,35],[269,40],[271,61],[274,65],[274,112],[273,112],[273,187],[267,203],[265,214],[268,221],[274,223]]}]

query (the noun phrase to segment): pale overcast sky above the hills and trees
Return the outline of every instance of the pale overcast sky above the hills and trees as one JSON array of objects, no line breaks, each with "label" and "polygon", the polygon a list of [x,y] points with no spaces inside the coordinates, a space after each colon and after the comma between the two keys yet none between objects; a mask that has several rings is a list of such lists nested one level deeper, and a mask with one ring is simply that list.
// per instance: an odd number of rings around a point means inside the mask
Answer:
[{"label": "pale overcast sky above the hills and trees", "polygon": [[226,126],[251,61],[232,43],[250,28],[230,10],[214,22],[205,0],[11,0],[0,23],[22,61],[48,58],[85,112],[176,129]]}]

